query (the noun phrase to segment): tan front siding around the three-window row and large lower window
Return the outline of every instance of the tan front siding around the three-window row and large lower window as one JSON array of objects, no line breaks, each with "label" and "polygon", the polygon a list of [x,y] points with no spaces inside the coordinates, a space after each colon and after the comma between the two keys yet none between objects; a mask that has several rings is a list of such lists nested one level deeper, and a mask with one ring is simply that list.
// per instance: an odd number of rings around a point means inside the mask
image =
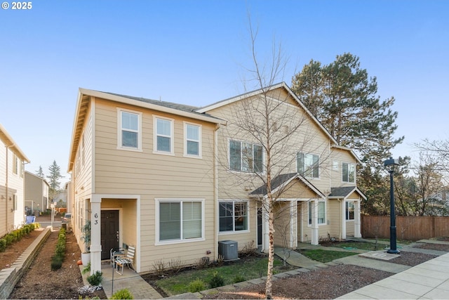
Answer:
[{"label": "tan front siding around the three-window row and large lower window", "polygon": [[[118,145],[118,109],[141,113],[142,150],[122,150]],[[153,152],[154,117],[173,119],[173,155]],[[201,125],[202,158],[184,157],[184,122]],[[183,263],[194,263],[203,256],[216,257],[215,204],[213,193],[213,134],[215,124],[163,112],[142,110],[130,105],[96,99],[95,101],[95,193],[140,195],[140,272],[149,272],[154,262],[179,258]],[[156,245],[156,199],[203,199],[204,240]],[[123,200],[123,204],[130,203]],[[102,204],[103,205],[103,204]],[[103,207],[103,206],[102,206]],[[127,211],[123,207],[123,219]],[[123,227],[123,241],[137,223]],[[134,235],[136,235],[135,233]],[[137,237],[136,237],[137,238]],[[126,242],[126,241],[125,241]],[[137,243],[137,242],[136,242]],[[182,250],[181,250],[182,249]],[[206,254],[206,251],[210,254]]]}]

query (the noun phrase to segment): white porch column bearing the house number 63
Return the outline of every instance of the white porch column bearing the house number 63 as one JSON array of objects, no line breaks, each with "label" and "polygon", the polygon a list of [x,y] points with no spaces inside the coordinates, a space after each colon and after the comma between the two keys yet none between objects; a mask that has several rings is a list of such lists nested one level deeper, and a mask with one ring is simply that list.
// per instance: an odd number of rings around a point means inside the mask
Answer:
[{"label": "white porch column bearing the house number 63", "polygon": [[101,197],[91,199],[91,275],[101,272]]}]

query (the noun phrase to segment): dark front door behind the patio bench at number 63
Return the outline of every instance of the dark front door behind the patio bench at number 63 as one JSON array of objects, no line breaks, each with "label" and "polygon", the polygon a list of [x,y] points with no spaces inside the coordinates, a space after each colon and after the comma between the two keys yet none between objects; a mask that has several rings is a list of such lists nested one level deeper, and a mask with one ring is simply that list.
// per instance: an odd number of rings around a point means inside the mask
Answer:
[{"label": "dark front door behind the patio bench at number 63", "polygon": [[101,259],[109,259],[111,249],[119,248],[119,211],[101,211]]}]

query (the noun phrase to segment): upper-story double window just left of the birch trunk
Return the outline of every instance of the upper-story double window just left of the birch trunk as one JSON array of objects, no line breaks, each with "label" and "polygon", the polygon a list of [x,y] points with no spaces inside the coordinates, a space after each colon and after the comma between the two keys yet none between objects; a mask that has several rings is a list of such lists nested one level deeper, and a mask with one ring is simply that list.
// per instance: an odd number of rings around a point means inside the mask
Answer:
[{"label": "upper-story double window just left of the birch trunk", "polygon": [[262,145],[229,140],[229,170],[262,173]]}]

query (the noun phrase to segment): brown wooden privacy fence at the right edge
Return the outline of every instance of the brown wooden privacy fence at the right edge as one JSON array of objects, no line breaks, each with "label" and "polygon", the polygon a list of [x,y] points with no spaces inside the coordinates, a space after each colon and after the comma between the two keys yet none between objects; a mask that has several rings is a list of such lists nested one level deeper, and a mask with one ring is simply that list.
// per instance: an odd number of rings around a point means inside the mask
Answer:
[{"label": "brown wooden privacy fence at the right edge", "polygon": [[[390,237],[390,216],[361,216],[363,237]],[[398,240],[424,240],[431,237],[449,237],[447,216],[396,216]]]}]

